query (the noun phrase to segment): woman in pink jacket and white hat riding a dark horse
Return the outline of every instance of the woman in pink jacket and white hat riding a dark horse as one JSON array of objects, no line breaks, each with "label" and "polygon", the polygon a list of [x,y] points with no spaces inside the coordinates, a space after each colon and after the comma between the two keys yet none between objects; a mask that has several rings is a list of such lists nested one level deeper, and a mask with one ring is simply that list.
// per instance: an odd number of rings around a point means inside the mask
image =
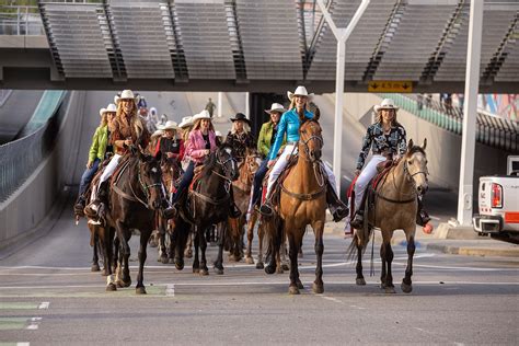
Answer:
[{"label": "woman in pink jacket and white hat riding a dark horse", "polygon": [[[178,188],[172,197],[172,204],[175,214],[177,214],[180,209],[178,201],[181,197],[193,182],[193,177],[195,176],[195,166],[201,165],[206,157],[209,155],[211,151],[217,149],[215,127],[212,126],[209,112],[204,109],[199,114],[194,115],[192,120],[194,126],[186,142],[186,155],[189,158],[189,164],[182,176]],[[234,204],[232,188],[230,189],[230,214],[232,218],[238,218],[241,215],[241,211]]]}]

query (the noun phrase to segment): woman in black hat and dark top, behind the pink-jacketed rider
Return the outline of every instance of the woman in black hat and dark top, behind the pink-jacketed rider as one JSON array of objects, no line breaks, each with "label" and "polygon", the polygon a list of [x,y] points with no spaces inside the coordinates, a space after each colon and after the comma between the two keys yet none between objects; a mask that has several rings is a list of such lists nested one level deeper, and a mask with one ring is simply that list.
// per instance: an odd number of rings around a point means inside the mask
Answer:
[{"label": "woman in black hat and dark top, behind the pink-jacketed rider", "polygon": [[237,113],[231,118],[232,128],[227,134],[226,145],[232,150],[232,157],[238,163],[245,159],[246,149],[255,149],[254,136],[251,134],[251,122],[243,113]]}]

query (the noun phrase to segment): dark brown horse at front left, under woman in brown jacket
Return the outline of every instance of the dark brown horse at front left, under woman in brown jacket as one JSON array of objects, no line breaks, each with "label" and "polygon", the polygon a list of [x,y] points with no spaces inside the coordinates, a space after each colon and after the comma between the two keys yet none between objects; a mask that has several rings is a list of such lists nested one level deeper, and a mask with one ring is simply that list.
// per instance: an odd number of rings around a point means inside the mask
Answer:
[{"label": "dark brown horse at front left, under woman in brown jacket", "polygon": [[[162,201],[162,172],[160,154],[158,158],[146,155],[137,149],[120,160],[119,169],[112,177],[108,194],[109,207],[106,212],[108,224],[116,229],[119,242],[119,263],[114,282],[113,275],[107,278],[107,286],[115,290],[115,285],[129,287],[128,260],[131,230],[140,231],[139,273],[137,275],[136,293],[146,295],[143,268],[147,258],[147,245],[154,227],[155,210]],[[107,289],[108,289],[107,287]]]}]

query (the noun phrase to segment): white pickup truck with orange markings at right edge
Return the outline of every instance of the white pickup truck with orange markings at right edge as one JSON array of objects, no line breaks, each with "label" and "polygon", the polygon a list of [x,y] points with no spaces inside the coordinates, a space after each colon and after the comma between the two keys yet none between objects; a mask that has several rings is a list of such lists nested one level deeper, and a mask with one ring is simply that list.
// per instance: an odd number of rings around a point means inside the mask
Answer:
[{"label": "white pickup truck with orange markings at right edge", "polygon": [[480,177],[480,214],[473,223],[482,235],[519,244],[519,157],[508,157],[507,171]]}]

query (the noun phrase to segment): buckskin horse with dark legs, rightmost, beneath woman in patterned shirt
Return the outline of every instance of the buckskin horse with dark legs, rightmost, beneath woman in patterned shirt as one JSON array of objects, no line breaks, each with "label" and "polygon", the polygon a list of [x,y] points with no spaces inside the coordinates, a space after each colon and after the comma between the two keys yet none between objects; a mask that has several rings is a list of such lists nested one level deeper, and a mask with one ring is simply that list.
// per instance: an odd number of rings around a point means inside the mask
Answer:
[{"label": "buckskin horse with dark legs, rightmost, beneath woman in patterned shirt", "polygon": [[[395,292],[391,273],[393,261],[391,238],[395,230],[402,229],[407,240],[407,266],[401,287],[405,293],[413,290],[411,276],[413,275],[413,255],[415,253],[417,198],[418,195],[425,194],[428,188],[426,146],[427,140],[424,140],[422,147],[414,146],[413,140],[410,140],[405,155],[391,168],[385,177],[378,184],[373,196],[374,207],[366,208],[369,211],[365,218],[364,229],[355,230],[348,252],[351,257],[355,250],[357,250],[357,285],[366,285],[362,276],[362,253],[369,243],[372,229],[379,228],[382,232],[382,244],[380,246],[380,257],[382,258],[381,288],[385,289],[387,293]],[[369,203],[370,198],[367,199]]]}]

